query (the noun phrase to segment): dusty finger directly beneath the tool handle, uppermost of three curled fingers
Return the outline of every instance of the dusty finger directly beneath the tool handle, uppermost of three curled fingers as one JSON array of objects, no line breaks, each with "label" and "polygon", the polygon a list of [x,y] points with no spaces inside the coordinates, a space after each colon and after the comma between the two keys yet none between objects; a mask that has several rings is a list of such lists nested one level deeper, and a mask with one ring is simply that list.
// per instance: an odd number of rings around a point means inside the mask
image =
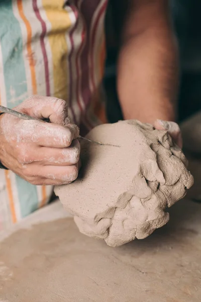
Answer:
[{"label": "dusty finger directly beneath the tool handle, uppermost of three curled fingers", "polygon": [[40,146],[55,148],[70,146],[77,136],[77,128],[71,125],[64,127],[35,120],[20,120],[15,130],[17,142],[34,142]]}]

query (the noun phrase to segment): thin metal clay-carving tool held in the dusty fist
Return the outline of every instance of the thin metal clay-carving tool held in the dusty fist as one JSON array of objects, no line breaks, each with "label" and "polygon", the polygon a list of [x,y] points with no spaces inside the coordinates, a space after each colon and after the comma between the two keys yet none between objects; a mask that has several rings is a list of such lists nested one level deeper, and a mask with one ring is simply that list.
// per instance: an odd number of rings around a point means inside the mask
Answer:
[{"label": "thin metal clay-carving tool held in the dusty fist", "polygon": [[[7,107],[1,106],[1,105],[0,105],[0,111],[2,111],[4,113],[11,114],[11,115],[14,115],[14,116],[16,116],[18,118],[22,118],[24,120],[37,120],[37,121],[40,121],[40,122],[47,122],[47,123],[49,122],[49,119],[41,120],[41,119],[38,119],[36,117],[33,117],[33,116],[30,116],[30,115],[15,111],[13,109],[10,109],[10,108],[7,108]],[[110,144],[110,143],[103,143],[103,142],[91,140],[91,139],[88,139],[88,138],[83,137],[81,135],[78,135],[78,138],[81,138],[81,139],[84,139],[84,140],[87,140],[89,142],[93,142],[93,143],[96,143],[96,144],[99,144],[99,145],[119,147],[118,145],[113,145],[113,144]]]}]

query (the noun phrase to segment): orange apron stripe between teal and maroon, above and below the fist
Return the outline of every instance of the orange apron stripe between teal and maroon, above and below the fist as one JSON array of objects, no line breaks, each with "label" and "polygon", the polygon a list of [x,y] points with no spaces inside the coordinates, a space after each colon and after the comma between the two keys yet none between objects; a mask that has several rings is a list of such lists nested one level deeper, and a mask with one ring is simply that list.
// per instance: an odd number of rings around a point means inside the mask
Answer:
[{"label": "orange apron stripe between teal and maroon, above and below the fist", "polygon": [[[18,5],[20,17],[24,21],[26,29],[27,29],[27,53],[28,53],[29,67],[30,67],[30,71],[31,71],[32,91],[33,91],[33,94],[37,94],[35,61],[34,61],[33,51],[32,51],[32,47],[31,47],[32,28],[23,11],[23,0],[17,0],[17,5]],[[41,206],[43,204],[45,204],[46,199],[47,199],[46,188],[45,188],[45,186],[43,186],[42,187]]]}]

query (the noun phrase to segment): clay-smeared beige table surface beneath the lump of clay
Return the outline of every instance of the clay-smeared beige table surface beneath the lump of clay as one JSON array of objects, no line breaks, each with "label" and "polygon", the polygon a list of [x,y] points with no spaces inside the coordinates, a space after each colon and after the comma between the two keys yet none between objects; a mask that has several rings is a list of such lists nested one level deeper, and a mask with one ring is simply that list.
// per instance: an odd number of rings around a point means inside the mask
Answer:
[{"label": "clay-smeared beige table surface beneath the lump of clay", "polygon": [[147,239],[111,248],[50,204],[2,236],[0,301],[199,302],[201,204],[181,200],[169,212]]}]

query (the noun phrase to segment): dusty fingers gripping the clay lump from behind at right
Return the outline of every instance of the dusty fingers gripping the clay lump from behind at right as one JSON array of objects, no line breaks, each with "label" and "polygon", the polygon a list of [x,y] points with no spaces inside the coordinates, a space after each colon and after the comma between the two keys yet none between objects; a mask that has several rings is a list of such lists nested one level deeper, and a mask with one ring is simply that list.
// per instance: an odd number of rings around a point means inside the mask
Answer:
[{"label": "dusty fingers gripping the clay lump from behind at right", "polygon": [[154,127],[158,130],[167,130],[167,132],[170,134],[170,136],[172,137],[174,142],[179,146],[179,148],[182,148],[181,130],[177,123],[162,121],[158,119],[154,122]]}]

